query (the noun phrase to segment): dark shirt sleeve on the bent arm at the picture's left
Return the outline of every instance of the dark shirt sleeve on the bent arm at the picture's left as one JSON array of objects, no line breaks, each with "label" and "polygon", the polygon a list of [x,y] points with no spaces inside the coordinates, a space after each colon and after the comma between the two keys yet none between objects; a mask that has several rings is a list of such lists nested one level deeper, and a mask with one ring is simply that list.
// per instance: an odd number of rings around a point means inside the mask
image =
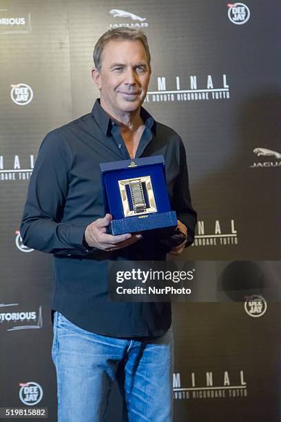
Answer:
[{"label": "dark shirt sleeve on the bent arm at the picture's left", "polygon": [[39,149],[21,221],[21,238],[29,248],[60,255],[98,250],[83,244],[87,224],[61,223],[70,165],[71,152],[64,137],[50,132]]}]

